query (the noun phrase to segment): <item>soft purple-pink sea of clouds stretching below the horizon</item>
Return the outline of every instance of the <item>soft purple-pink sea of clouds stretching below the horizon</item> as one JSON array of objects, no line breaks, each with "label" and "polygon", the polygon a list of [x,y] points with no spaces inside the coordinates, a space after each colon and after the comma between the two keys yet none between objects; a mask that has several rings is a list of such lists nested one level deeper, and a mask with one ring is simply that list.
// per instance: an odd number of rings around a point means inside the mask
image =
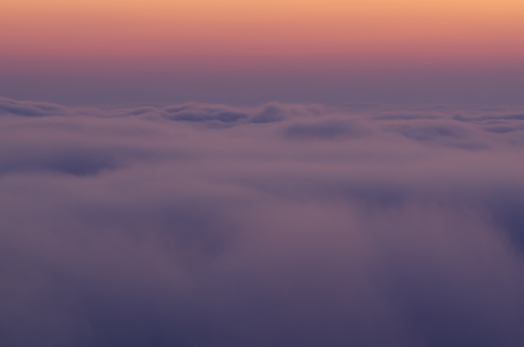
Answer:
[{"label": "soft purple-pink sea of clouds stretching below the horizon", "polygon": [[524,107],[0,99],[4,346],[520,347]]}]

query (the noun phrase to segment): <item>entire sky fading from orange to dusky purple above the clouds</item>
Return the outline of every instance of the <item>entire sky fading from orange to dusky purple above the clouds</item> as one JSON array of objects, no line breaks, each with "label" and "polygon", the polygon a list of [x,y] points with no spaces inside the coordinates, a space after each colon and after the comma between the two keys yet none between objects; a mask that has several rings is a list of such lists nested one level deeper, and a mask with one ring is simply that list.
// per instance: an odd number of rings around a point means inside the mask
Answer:
[{"label": "entire sky fading from orange to dusky purple above the clouds", "polygon": [[[155,81],[152,73],[156,71],[214,89],[224,84],[226,89],[243,85],[232,88],[230,94],[242,94],[247,84],[260,79],[260,73],[274,75],[263,91],[253,91],[255,98],[269,97],[272,88],[289,85],[286,91],[274,94],[297,99],[292,95],[301,93],[304,76],[309,76],[308,84],[333,85],[333,90],[345,88],[353,94],[358,86],[362,90],[362,83],[347,81],[364,79],[364,84],[375,82],[369,92],[361,93],[361,99],[388,101],[389,97],[400,102],[402,97],[388,93],[383,97],[379,90],[381,84],[399,84],[400,90],[406,90],[405,101],[420,102],[439,93],[428,91],[410,100],[409,92],[417,95],[424,83],[439,86],[442,92],[444,84],[464,84],[461,80],[473,78],[463,90],[494,83],[493,91],[497,91],[509,83],[507,91],[514,91],[514,76],[522,74],[524,59],[524,3],[518,0],[5,0],[0,6],[0,73],[4,79],[0,93],[10,97],[17,96],[17,88],[21,94],[29,91],[31,84],[37,90],[42,82],[31,79],[35,73],[54,74],[53,81],[69,76],[69,82],[57,86],[56,93],[62,94],[60,88],[94,93],[117,80],[113,90],[129,89],[122,80],[122,74],[129,76],[129,72],[135,74],[132,84],[142,85],[143,91],[144,83],[149,83],[159,86],[156,92],[184,94],[180,87]],[[183,76],[190,71],[191,75]],[[457,71],[470,75],[458,78]],[[121,74],[108,83],[104,79],[108,72]],[[212,74],[216,72],[225,75]],[[31,78],[25,84],[19,82],[28,73]],[[445,82],[435,77],[428,80],[428,73],[449,78]],[[513,77],[500,78],[500,73]],[[100,78],[89,87],[85,81],[78,82],[97,74]],[[341,74],[346,76],[342,84],[336,81]],[[405,81],[413,78],[418,79],[416,83]],[[19,85],[13,85],[14,81]],[[517,84],[521,82],[519,77]],[[194,88],[191,83],[184,82]],[[321,90],[311,90],[312,96],[305,99],[329,101]],[[454,91],[457,93],[460,91]],[[469,94],[464,93],[467,101]],[[213,93],[208,94],[187,93],[185,97],[213,99]],[[319,100],[313,100],[315,95]],[[490,102],[518,101],[503,99]]]}]

